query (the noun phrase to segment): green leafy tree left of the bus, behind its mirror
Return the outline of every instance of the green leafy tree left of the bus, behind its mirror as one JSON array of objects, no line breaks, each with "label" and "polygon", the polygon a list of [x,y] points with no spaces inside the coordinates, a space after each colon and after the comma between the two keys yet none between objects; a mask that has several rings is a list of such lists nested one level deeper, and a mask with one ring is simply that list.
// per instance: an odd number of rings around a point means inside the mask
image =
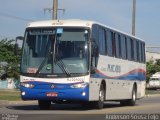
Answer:
[{"label": "green leafy tree left of the bus, behind its mirror", "polygon": [[2,79],[6,77],[13,77],[15,79],[19,78],[19,63],[21,49],[18,48],[18,54],[14,54],[14,41],[3,39],[0,41],[0,62],[7,62],[7,66],[3,66],[0,69],[5,71],[1,77]]}]

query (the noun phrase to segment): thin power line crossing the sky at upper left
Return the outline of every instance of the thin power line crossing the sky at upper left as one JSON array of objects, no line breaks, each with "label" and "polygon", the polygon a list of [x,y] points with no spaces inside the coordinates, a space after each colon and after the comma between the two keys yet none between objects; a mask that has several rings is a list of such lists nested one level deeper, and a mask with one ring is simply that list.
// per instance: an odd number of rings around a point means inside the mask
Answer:
[{"label": "thin power line crossing the sky at upper left", "polygon": [[5,13],[1,13],[1,12],[0,12],[0,16],[11,18],[11,19],[17,19],[17,20],[21,20],[21,21],[27,21],[27,22],[34,21],[34,20],[31,20],[31,19],[26,19],[26,18],[14,16],[14,15],[9,15],[9,14],[5,14]]}]

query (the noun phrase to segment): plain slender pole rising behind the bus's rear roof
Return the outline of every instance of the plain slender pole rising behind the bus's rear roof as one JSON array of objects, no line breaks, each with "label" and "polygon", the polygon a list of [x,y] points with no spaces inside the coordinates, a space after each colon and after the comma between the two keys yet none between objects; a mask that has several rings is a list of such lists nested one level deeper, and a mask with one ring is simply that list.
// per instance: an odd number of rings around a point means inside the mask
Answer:
[{"label": "plain slender pole rising behind the bus's rear roof", "polygon": [[132,11],[132,35],[135,36],[136,28],[136,0],[133,0],[133,11]]}]

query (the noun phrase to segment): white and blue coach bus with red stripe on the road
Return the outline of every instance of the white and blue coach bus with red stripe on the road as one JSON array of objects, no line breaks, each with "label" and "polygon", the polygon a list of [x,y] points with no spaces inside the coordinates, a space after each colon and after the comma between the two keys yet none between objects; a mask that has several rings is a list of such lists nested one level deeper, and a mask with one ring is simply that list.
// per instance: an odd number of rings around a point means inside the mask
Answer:
[{"label": "white and blue coach bus with red stripe on the road", "polygon": [[145,42],[95,21],[29,23],[20,65],[23,100],[104,107],[135,105],[146,86]]}]

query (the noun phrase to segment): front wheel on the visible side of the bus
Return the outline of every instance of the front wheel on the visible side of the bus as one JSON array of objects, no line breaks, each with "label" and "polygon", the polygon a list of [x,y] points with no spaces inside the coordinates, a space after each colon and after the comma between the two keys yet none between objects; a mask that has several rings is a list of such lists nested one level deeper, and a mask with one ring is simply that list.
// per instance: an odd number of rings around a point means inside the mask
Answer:
[{"label": "front wheel on the visible side of the bus", "polygon": [[95,102],[95,106],[97,109],[102,109],[104,106],[104,99],[105,99],[105,89],[103,84],[100,86],[99,90],[99,100]]}]

